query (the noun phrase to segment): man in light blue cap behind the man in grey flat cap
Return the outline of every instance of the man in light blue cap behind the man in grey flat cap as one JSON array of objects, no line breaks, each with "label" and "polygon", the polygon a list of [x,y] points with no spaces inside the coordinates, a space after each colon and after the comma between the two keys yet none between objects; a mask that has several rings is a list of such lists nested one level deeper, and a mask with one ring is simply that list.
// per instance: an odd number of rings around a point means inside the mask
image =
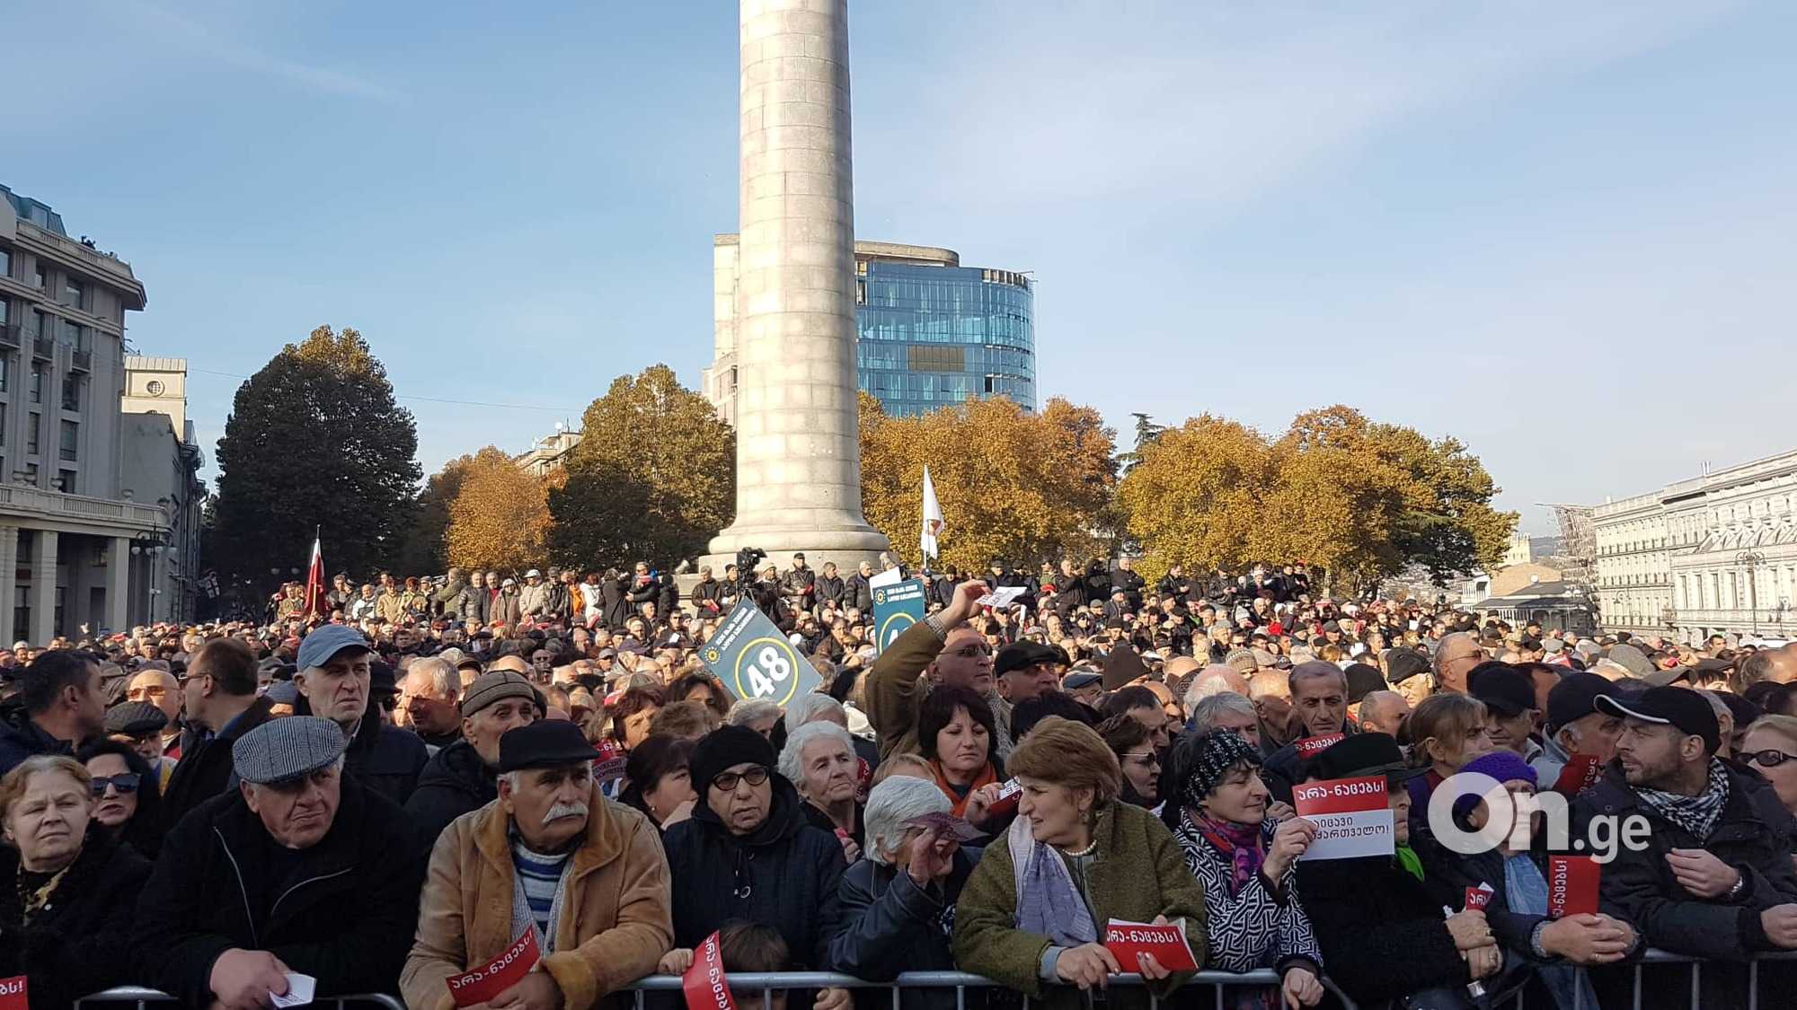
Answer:
[{"label": "man in light blue cap behind the man in grey flat cap", "polygon": [[404,805],[431,758],[424,740],[381,722],[372,710],[372,647],[345,624],[325,624],[300,640],[293,683],[300,688],[298,715],[322,715],[349,737],[343,764],[363,785]]}]

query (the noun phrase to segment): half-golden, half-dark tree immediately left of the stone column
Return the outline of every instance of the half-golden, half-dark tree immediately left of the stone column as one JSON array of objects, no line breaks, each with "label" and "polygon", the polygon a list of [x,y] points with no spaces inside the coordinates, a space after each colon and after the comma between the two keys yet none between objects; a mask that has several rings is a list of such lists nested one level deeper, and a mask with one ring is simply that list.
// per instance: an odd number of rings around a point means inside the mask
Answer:
[{"label": "half-golden, half-dark tree immediately left of the stone column", "polygon": [[667,365],[618,376],[586,408],[566,485],[550,489],[548,552],[580,568],[672,566],[735,510],[737,437]]}]

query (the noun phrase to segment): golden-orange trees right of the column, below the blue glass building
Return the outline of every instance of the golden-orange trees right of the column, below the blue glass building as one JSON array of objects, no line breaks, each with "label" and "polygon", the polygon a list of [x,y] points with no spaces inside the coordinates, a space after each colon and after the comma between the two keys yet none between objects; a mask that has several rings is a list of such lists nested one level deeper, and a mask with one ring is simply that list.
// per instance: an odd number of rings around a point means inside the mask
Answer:
[{"label": "golden-orange trees right of the column, below the blue glass building", "polygon": [[1114,433],[1096,410],[1051,399],[1026,413],[978,399],[918,417],[886,417],[861,394],[861,510],[900,554],[916,554],[924,465],[947,528],[942,561],[1040,563],[1107,548],[1116,487]]}]

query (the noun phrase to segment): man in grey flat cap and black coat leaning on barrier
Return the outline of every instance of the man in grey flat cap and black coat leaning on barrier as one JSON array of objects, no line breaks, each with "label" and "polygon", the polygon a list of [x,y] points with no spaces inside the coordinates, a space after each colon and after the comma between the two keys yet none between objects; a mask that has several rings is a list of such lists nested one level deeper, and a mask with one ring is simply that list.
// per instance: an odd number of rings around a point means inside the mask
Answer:
[{"label": "man in grey flat cap and black coat leaning on barrier", "polygon": [[232,746],[237,789],[164,839],[137,906],[146,981],[183,1006],[266,1006],[286,972],[318,996],[395,992],[422,861],[406,814],[343,771],[329,719],[264,722]]}]

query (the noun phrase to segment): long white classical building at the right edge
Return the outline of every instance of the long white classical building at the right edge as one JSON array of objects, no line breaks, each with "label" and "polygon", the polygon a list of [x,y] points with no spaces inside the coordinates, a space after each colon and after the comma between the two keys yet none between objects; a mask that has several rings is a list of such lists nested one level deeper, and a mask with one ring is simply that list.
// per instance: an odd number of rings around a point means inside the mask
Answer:
[{"label": "long white classical building at the right edge", "polygon": [[1797,451],[1592,509],[1607,631],[1797,633]]}]

